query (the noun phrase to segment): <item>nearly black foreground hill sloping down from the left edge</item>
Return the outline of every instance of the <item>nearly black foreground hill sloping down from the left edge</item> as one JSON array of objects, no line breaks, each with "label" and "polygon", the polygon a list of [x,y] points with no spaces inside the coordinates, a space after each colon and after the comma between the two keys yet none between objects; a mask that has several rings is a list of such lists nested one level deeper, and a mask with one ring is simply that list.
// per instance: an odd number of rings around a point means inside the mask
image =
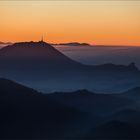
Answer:
[{"label": "nearly black foreground hill sloping down from the left edge", "polygon": [[[31,88],[0,79],[0,139],[77,137],[86,114]],[[77,126],[75,126],[77,125]],[[84,125],[84,126],[83,126]]]}]

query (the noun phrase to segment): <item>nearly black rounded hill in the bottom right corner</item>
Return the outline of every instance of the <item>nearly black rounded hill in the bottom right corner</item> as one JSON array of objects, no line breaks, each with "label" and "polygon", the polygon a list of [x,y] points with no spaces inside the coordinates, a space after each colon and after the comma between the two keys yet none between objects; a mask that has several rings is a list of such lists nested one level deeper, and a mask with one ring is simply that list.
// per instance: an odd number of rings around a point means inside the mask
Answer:
[{"label": "nearly black rounded hill in the bottom right corner", "polygon": [[89,138],[93,139],[139,139],[138,128],[129,123],[121,121],[110,121],[93,129],[89,134]]}]

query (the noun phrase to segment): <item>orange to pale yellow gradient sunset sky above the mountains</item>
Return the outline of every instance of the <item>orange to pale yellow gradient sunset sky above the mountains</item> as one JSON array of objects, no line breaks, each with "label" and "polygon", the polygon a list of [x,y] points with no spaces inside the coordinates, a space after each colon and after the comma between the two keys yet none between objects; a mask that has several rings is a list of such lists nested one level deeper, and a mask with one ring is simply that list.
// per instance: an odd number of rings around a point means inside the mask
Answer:
[{"label": "orange to pale yellow gradient sunset sky above the mountains", "polygon": [[140,46],[140,1],[0,1],[0,41]]}]

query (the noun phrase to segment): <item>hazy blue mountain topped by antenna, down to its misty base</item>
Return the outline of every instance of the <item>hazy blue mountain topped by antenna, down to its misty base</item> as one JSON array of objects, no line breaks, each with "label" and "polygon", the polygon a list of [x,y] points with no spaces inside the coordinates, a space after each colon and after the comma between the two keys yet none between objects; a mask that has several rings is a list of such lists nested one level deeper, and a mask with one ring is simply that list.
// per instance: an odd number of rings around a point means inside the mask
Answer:
[{"label": "hazy blue mountain topped by antenna, down to its misty base", "polygon": [[40,42],[21,42],[0,49],[0,76],[44,92],[113,93],[140,84],[140,72],[130,65],[83,65]]}]

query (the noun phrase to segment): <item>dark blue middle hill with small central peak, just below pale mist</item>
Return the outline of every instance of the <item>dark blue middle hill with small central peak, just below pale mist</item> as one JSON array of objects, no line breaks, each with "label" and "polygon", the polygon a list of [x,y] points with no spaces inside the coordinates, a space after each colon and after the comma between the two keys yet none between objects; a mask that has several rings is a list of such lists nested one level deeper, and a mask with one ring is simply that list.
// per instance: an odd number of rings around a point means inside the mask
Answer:
[{"label": "dark blue middle hill with small central peak, just below pale mist", "polygon": [[[112,94],[97,94],[88,90],[47,94],[53,100],[97,116],[112,115],[131,103],[127,98]],[[97,120],[96,120],[97,121]]]}]

